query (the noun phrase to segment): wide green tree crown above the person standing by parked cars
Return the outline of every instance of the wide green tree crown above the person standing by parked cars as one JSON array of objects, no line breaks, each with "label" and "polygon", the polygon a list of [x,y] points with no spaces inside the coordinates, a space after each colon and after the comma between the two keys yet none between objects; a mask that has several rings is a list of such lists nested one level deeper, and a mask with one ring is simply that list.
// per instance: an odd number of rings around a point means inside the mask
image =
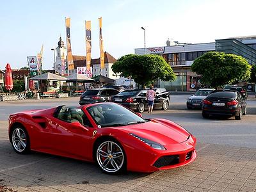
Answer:
[{"label": "wide green tree crown above the person standing by parked cars", "polygon": [[173,81],[176,77],[164,58],[155,54],[127,54],[113,64],[112,70],[143,85],[151,84],[157,79]]}]

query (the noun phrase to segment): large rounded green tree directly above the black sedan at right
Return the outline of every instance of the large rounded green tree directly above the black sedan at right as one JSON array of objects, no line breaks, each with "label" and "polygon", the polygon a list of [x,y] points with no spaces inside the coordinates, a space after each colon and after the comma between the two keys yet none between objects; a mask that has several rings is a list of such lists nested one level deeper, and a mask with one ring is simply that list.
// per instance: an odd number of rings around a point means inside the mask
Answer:
[{"label": "large rounded green tree directly above the black sedan at right", "polygon": [[196,58],[191,65],[191,70],[202,76],[200,81],[214,88],[248,80],[250,68],[250,64],[242,56],[215,51]]}]

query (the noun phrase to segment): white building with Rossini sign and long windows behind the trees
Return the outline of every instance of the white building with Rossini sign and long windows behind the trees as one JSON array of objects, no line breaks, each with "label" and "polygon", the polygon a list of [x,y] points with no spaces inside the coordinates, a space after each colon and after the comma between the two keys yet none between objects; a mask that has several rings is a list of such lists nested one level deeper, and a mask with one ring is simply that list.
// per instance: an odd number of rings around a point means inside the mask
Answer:
[{"label": "white building with Rossini sign and long windows behind the trees", "polygon": [[205,52],[218,51],[243,56],[251,65],[256,63],[256,36],[241,36],[216,40],[205,44],[166,42],[164,47],[135,49],[135,54],[159,54],[163,56],[177,76],[175,81],[157,81],[156,86],[169,91],[195,91],[200,88],[200,76],[191,72],[193,61]]}]

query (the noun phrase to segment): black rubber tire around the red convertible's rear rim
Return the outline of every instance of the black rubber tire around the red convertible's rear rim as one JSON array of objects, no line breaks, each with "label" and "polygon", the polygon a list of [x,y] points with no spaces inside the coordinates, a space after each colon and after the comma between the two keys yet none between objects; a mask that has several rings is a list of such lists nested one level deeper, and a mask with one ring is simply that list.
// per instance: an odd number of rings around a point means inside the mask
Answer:
[{"label": "black rubber tire around the red convertible's rear rim", "polygon": [[[30,140],[28,131],[22,125],[15,125],[10,131],[10,141],[17,154],[28,154],[30,152]],[[20,132],[20,136],[18,134]],[[19,145],[20,142],[20,145]],[[25,143],[25,145],[24,145]]]}]

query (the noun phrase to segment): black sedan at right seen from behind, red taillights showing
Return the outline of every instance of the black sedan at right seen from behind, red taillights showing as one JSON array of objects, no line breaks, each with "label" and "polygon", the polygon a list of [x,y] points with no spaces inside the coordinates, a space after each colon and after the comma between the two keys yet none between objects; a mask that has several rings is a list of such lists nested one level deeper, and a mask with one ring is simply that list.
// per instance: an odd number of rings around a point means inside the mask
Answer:
[{"label": "black sedan at right seen from behind, red taillights showing", "polygon": [[204,118],[208,118],[209,115],[225,115],[235,116],[236,120],[241,120],[246,111],[246,100],[239,92],[214,92],[203,100]]}]

